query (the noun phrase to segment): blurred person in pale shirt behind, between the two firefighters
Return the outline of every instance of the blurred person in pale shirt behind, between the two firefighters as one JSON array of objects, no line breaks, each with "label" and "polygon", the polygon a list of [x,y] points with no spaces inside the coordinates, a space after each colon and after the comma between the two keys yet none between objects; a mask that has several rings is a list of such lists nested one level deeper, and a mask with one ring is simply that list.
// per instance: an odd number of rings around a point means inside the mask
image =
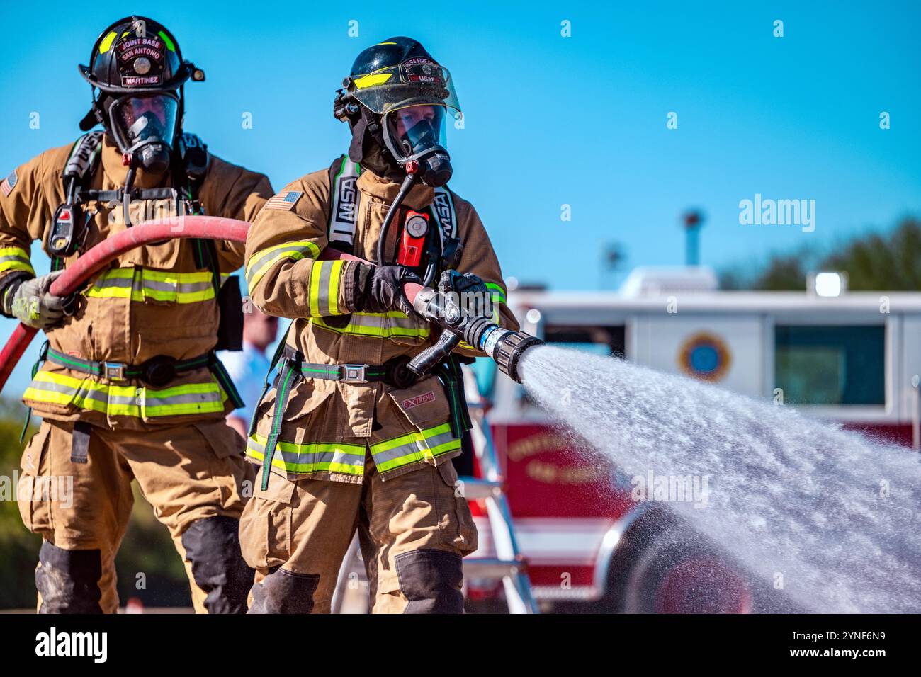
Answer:
[{"label": "blurred person in pale shirt behind, between the two firefighters", "polygon": [[252,412],[259,403],[265,372],[269,370],[271,360],[265,353],[278,333],[278,318],[266,315],[255,306],[249,310],[243,314],[243,349],[220,353],[221,362],[244,404],[242,409],[227,414],[227,424],[243,439],[247,438]]}]

